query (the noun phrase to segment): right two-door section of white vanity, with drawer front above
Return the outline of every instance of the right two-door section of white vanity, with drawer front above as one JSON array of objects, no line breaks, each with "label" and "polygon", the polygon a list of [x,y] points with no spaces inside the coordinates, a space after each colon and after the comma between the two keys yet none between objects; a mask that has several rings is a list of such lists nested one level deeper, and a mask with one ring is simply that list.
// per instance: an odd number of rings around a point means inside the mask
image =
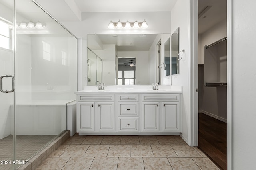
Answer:
[{"label": "right two-door section of white vanity, with drawer front above", "polygon": [[181,94],[142,94],[143,131],[181,132],[181,117]]}]

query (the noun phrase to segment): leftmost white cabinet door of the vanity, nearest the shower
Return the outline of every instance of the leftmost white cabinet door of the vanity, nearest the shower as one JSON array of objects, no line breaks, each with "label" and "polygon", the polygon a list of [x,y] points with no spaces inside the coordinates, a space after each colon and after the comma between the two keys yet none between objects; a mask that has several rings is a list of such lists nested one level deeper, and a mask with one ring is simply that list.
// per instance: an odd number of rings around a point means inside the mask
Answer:
[{"label": "leftmost white cabinet door of the vanity, nearest the shower", "polygon": [[84,102],[77,104],[77,131],[94,131],[95,114],[94,102]]}]

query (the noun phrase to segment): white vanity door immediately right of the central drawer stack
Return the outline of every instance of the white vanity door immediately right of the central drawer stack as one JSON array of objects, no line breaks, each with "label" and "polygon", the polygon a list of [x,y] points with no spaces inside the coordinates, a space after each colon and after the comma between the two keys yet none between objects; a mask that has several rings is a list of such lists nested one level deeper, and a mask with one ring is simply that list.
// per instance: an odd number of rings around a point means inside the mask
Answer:
[{"label": "white vanity door immediately right of the central drawer stack", "polygon": [[159,131],[159,102],[142,103],[142,131]]}]

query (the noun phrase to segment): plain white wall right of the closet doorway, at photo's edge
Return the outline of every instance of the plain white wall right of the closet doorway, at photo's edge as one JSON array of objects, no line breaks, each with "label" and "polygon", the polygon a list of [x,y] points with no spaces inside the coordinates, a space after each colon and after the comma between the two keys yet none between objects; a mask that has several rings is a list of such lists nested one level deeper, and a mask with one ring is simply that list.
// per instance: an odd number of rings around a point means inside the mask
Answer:
[{"label": "plain white wall right of the closet doorway, at photo's edge", "polygon": [[[228,3],[231,2],[228,0]],[[229,123],[232,122],[232,165],[231,170],[254,169],[256,150],[256,10],[255,0],[232,0],[232,50],[228,49],[229,68],[232,72],[232,98],[228,98],[228,103],[232,102],[231,109],[228,110],[228,131]],[[230,16],[231,17],[231,16]],[[228,46],[229,47],[229,46]],[[232,52],[229,53],[229,52]],[[230,66],[228,65],[228,66]],[[232,69],[232,70],[231,70]],[[230,74],[229,74],[230,76]],[[231,88],[231,86],[228,86]],[[228,143],[228,146],[230,143]],[[231,155],[230,155],[231,156]]]}]

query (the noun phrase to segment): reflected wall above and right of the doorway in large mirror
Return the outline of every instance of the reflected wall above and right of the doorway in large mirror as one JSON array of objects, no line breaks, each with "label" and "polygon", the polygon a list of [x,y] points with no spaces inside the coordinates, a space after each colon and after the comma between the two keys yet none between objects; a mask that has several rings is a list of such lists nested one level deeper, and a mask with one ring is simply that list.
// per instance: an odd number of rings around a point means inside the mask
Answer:
[{"label": "reflected wall above and right of the doorway in large mirror", "polygon": [[148,74],[148,51],[119,51],[118,57],[136,58],[135,84],[150,84],[150,74]]}]

